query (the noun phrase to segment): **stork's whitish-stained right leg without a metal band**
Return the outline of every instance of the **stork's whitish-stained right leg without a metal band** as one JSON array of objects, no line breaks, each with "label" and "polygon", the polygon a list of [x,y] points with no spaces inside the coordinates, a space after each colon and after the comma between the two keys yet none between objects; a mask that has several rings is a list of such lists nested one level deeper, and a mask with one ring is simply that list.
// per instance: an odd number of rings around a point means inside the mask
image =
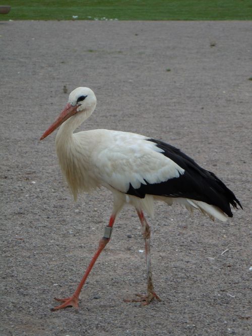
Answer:
[{"label": "stork's whitish-stained right leg without a metal band", "polygon": [[145,219],[143,211],[137,209],[137,213],[142,225],[142,234],[145,240],[145,257],[147,265],[147,294],[141,295],[137,294],[138,298],[133,300],[124,300],[125,302],[142,302],[142,305],[148,305],[153,299],[161,301],[161,299],[154,292],[154,286],[152,281],[152,272],[151,272],[151,253],[150,253],[150,236],[151,230]]}]

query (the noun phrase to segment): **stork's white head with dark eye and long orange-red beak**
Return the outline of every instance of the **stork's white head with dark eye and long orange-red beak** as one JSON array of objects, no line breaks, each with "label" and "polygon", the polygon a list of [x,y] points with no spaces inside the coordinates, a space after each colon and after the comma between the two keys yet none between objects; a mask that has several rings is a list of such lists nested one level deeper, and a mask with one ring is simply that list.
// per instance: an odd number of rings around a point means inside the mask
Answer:
[{"label": "stork's white head with dark eye and long orange-red beak", "polygon": [[[51,134],[62,123],[68,120],[70,117],[77,116],[86,111],[87,114],[91,114],[96,106],[96,96],[94,92],[88,87],[78,87],[72,91],[68,98],[68,103],[64,110],[60,113],[55,122],[44,132],[40,140],[43,140],[49,134]],[[89,116],[88,115],[88,116]],[[87,116],[87,117],[88,117]]]}]

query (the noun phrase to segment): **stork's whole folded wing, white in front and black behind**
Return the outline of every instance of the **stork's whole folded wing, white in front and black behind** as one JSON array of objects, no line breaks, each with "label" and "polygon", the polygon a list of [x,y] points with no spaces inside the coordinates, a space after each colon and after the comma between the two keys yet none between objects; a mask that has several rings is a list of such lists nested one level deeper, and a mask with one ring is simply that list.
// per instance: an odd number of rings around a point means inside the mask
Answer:
[{"label": "stork's whole folded wing, white in front and black behind", "polygon": [[[102,179],[123,193],[182,197],[216,205],[232,216],[235,198],[223,182],[179,149],[150,138],[125,141],[99,155]],[[240,205],[241,206],[241,205]]]}]

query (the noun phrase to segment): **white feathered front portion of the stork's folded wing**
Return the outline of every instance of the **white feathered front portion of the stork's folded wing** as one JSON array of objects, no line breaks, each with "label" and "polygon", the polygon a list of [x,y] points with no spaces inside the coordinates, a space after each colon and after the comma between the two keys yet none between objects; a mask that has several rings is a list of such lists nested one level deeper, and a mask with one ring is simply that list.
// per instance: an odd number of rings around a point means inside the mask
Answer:
[{"label": "white feathered front portion of the stork's folded wing", "polygon": [[[178,178],[184,170],[155,143],[146,141],[143,136],[121,132],[121,137],[114,138],[113,144],[101,150],[95,165],[99,167],[102,181],[114,189],[127,193],[130,188],[140,192],[141,185],[154,185],[169,179]],[[124,136],[124,137],[123,137]],[[145,194],[137,195],[145,197]]]}]

